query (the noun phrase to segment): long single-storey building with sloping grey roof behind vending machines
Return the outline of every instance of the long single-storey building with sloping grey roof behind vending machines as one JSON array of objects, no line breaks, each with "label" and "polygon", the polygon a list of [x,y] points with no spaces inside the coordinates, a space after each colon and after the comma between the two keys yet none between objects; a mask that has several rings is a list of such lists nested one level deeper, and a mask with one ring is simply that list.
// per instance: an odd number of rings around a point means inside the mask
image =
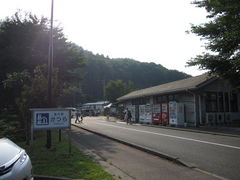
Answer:
[{"label": "long single-storey building with sloping grey roof behind vending machines", "polygon": [[169,102],[183,105],[184,123],[188,126],[240,122],[239,91],[234,90],[227,81],[208,74],[133,91],[119,97],[117,101],[119,105],[134,109],[133,114],[137,122],[141,120],[143,105],[148,106],[146,112],[152,115],[151,121],[147,122],[153,123],[154,115],[151,107],[162,104],[161,108],[163,108],[163,105],[167,104],[165,110],[161,109],[161,114],[164,115],[164,111],[167,112],[164,118],[168,118],[169,123],[171,118]]}]

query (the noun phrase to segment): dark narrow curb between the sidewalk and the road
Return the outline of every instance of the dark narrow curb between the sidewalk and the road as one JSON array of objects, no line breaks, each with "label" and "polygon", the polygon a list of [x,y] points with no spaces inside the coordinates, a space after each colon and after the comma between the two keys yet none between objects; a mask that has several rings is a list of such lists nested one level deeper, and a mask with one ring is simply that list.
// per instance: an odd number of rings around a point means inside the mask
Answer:
[{"label": "dark narrow curb between the sidewalk and the road", "polygon": [[81,129],[83,129],[83,130],[85,130],[85,131],[88,131],[88,132],[97,134],[97,135],[99,135],[99,136],[102,136],[102,137],[111,139],[111,140],[113,140],[113,141],[119,142],[119,143],[121,143],[121,144],[130,146],[130,147],[133,147],[133,148],[138,149],[138,150],[140,150],[140,151],[147,152],[147,153],[149,153],[149,154],[158,156],[158,157],[160,157],[160,158],[164,158],[164,159],[169,160],[169,161],[172,161],[172,162],[174,162],[174,163],[176,163],[176,164],[179,164],[179,165],[182,165],[182,166],[185,166],[185,167],[188,167],[188,168],[196,168],[195,166],[192,166],[191,164],[186,163],[186,162],[180,160],[178,157],[170,156],[170,155],[168,155],[168,154],[166,154],[166,153],[154,151],[154,150],[152,150],[152,149],[150,149],[150,148],[146,148],[146,147],[143,147],[143,146],[139,146],[139,145],[134,144],[134,143],[129,143],[129,142],[123,141],[123,140],[121,140],[121,139],[113,138],[113,137],[107,136],[107,135],[105,135],[105,134],[102,134],[102,133],[99,133],[99,132],[96,132],[96,131],[93,131],[93,130],[90,130],[90,129],[87,129],[87,128],[83,128],[83,127],[78,126],[78,125],[76,125],[76,124],[71,124],[71,125],[73,125],[73,126],[75,126],[75,127],[78,127],[78,128],[81,128]]}]

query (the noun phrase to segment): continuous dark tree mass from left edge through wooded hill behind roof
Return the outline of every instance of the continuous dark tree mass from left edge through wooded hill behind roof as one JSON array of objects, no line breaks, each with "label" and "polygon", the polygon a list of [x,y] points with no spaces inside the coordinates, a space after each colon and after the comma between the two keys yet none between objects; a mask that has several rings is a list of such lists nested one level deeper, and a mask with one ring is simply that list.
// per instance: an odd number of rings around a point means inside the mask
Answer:
[{"label": "continuous dark tree mass from left edge through wooded hill behind roof", "polygon": [[[49,31],[47,18],[21,10],[0,20],[0,137],[28,138],[29,108],[49,106]],[[95,55],[70,42],[57,25],[53,48],[54,107],[75,107],[105,98],[115,101],[136,88],[187,76],[154,63]]]}]

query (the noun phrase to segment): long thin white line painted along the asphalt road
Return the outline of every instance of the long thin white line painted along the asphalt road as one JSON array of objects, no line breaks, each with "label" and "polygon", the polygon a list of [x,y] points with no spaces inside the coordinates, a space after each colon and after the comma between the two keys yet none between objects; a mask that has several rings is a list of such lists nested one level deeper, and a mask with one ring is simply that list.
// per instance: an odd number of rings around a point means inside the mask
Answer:
[{"label": "long thin white line painted along the asphalt road", "polygon": [[112,126],[112,127],[116,127],[116,128],[120,128],[120,129],[127,129],[127,130],[131,130],[131,131],[137,131],[137,132],[142,132],[142,133],[154,134],[154,135],[159,135],[159,136],[171,137],[171,138],[176,138],[176,139],[182,139],[182,140],[187,140],[187,141],[194,141],[194,142],[199,142],[199,143],[204,143],[204,144],[211,144],[211,145],[215,145],[215,146],[222,146],[222,147],[227,147],[227,148],[240,150],[240,147],[238,147],[238,146],[231,146],[231,145],[227,145],[227,144],[220,144],[220,143],[214,143],[214,142],[209,142],[209,141],[202,141],[202,140],[197,140],[197,139],[192,139],[192,138],[185,138],[185,137],[173,136],[173,135],[168,135],[168,134],[155,133],[155,132],[149,132],[149,131],[143,131],[143,130],[137,130],[137,129],[131,129],[131,128],[120,127],[120,126],[109,125],[109,124],[103,124],[103,123],[96,123],[96,124],[103,125],[103,126]]}]

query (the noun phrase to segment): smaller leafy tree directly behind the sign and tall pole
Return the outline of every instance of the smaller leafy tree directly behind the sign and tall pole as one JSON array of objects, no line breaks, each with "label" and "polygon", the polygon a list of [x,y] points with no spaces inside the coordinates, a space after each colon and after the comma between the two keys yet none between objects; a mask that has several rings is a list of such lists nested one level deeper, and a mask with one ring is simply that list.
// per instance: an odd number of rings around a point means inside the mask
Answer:
[{"label": "smaller leafy tree directly behind the sign and tall pole", "polygon": [[[16,97],[16,104],[19,110],[18,122],[21,128],[26,129],[27,144],[30,140],[30,125],[31,115],[30,108],[41,108],[48,105],[47,99],[47,66],[39,65],[34,69],[33,76],[30,78],[30,83],[24,84],[22,87],[21,95]],[[53,70],[53,88],[54,94],[57,94],[59,89],[57,81],[57,70]]]}]

